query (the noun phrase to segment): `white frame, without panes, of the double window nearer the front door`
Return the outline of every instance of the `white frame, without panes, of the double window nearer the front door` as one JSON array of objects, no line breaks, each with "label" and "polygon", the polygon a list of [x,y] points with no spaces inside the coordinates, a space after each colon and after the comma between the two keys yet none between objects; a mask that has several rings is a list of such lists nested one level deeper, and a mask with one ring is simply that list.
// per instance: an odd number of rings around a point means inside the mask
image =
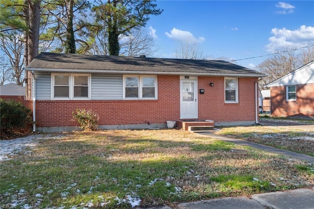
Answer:
[{"label": "white frame, without panes, of the double window nearer the front door", "polygon": [[[126,78],[138,78],[138,97],[126,97]],[[143,78],[155,78],[155,97],[143,97]],[[123,99],[124,100],[157,100],[157,76],[137,76],[137,75],[123,75]]]}]

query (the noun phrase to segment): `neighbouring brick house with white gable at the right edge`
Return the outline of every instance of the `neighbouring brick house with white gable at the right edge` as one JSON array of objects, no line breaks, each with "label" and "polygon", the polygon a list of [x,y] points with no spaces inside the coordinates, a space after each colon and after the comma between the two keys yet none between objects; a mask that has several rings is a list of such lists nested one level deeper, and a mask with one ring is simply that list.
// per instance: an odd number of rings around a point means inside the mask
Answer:
[{"label": "neighbouring brick house with white gable at the right edge", "polygon": [[314,60],[266,87],[272,117],[314,118]]}]

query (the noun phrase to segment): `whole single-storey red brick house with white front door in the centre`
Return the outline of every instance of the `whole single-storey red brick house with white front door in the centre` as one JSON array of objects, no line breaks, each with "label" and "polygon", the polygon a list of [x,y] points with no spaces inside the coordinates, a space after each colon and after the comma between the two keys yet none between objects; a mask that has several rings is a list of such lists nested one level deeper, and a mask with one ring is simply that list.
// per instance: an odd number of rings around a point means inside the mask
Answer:
[{"label": "whole single-storey red brick house with white front door in the centre", "polygon": [[258,122],[265,75],[226,61],[40,53],[28,101],[34,131],[71,131],[76,109],[99,115],[100,129],[165,128],[166,121]]}]

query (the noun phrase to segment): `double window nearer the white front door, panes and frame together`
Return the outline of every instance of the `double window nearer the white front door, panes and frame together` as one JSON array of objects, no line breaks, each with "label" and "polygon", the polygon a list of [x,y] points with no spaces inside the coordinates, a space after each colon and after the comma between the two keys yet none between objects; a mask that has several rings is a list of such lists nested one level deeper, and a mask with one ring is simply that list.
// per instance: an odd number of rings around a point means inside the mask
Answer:
[{"label": "double window nearer the white front door, panes and frame together", "polygon": [[157,99],[157,76],[123,76],[124,99]]}]

